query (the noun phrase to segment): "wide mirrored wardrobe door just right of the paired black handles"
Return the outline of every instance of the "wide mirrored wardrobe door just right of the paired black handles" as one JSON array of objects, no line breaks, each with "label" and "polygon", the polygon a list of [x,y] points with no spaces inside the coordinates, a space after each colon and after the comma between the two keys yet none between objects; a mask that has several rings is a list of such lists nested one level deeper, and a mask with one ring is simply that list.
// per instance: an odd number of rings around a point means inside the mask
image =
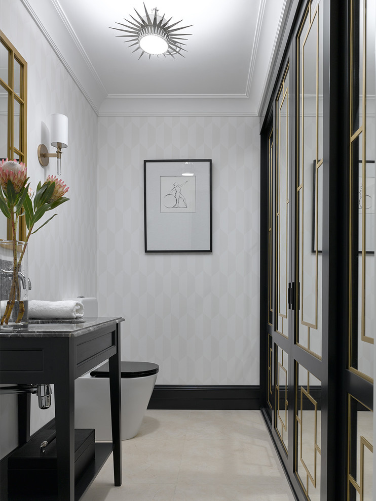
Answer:
[{"label": "wide mirrored wardrobe door just right of the paired black handles", "polygon": [[307,362],[322,358],[323,38],[323,0],[312,0],[296,37],[294,323],[294,472],[311,501],[321,499],[322,369]]}]

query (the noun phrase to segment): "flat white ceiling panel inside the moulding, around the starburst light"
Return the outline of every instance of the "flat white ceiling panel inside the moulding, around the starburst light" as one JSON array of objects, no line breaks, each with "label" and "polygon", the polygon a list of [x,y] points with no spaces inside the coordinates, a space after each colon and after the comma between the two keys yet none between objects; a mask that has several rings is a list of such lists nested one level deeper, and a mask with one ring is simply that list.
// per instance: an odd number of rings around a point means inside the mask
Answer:
[{"label": "flat white ceiling panel inside the moulding, around the starburst light", "polygon": [[[125,23],[134,8],[144,15],[140,0],[93,2],[59,0],[67,19],[93,64],[107,94],[244,94],[257,23],[260,0],[234,0],[237,12],[228,19],[229,2],[216,0],[158,0],[159,13],[166,13],[181,26],[193,24],[186,32],[185,58],[151,57],[140,60],[132,54],[125,38],[108,26]],[[148,5],[149,4],[149,5]],[[147,2],[151,13],[155,2]],[[133,8],[134,7],[134,8]],[[235,21],[235,22],[234,22]]]}]

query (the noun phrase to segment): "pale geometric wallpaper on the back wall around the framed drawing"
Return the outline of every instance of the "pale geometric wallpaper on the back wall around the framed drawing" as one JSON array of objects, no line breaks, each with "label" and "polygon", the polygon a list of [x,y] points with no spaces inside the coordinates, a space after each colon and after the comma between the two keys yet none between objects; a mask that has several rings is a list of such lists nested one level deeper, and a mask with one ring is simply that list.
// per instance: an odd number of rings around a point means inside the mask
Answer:
[{"label": "pale geometric wallpaper on the back wall around the framed drawing", "polygon": [[[98,303],[158,384],[259,382],[257,117],[98,118]],[[212,159],[212,254],[145,254],[144,159]]]}]

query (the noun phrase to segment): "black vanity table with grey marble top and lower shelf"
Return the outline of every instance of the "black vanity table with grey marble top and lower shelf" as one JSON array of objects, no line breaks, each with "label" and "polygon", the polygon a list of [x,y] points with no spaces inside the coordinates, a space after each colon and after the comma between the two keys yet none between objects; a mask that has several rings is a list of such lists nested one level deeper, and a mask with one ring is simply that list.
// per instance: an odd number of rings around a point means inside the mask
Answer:
[{"label": "black vanity table with grey marble top and lower shelf", "polygon": [[[26,330],[0,331],[0,383],[53,384],[57,450],[57,494],[49,501],[78,501],[114,454],[115,485],[122,483],[120,323],[123,318],[88,318],[30,323]],[[51,321],[52,322],[52,321]],[[112,442],[95,444],[95,460],[74,483],[74,380],[109,361]],[[30,438],[30,394],[18,395],[19,446]],[[6,432],[6,430],[5,430]],[[1,461],[2,501],[40,501],[40,496],[8,494],[8,456]],[[22,479],[20,478],[20,482]]]}]

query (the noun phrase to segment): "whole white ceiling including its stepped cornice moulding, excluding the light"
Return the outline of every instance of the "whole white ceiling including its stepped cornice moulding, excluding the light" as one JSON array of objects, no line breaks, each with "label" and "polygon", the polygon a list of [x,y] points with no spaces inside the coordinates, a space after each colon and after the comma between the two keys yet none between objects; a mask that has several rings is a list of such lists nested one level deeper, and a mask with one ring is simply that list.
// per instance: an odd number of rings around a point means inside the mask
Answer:
[{"label": "whole white ceiling including its stepped cornice moulding, excluding the light", "polygon": [[132,54],[130,43],[116,36],[123,33],[109,27],[137,17],[134,9],[144,15],[142,0],[22,2],[98,114],[185,110],[248,115],[258,113],[286,3],[145,0],[149,13],[156,6],[171,22],[192,24],[184,30],[192,35],[185,42],[185,57],[138,59],[140,51]]}]

